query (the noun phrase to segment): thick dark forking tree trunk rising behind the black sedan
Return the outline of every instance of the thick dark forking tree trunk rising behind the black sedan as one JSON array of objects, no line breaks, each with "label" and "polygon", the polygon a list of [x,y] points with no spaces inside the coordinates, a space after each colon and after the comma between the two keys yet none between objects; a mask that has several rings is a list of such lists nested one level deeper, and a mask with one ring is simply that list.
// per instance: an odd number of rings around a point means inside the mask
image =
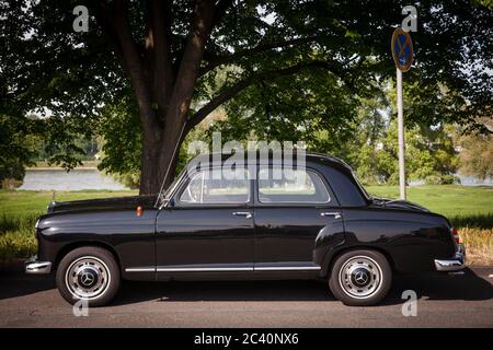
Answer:
[{"label": "thick dark forking tree trunk rising behind the black sedan", "polygon": [[98,21],[130,79],[139,106],[144,126],[140,195],[158,194],[161,185],[167,189],[174,178],[179,148],[190,131],[190,128],[185,130],[190,104],[215,19],[213,0],[195,2],[192,28],[177,50],[177,65],[173,69],[171,9],[164,3],[147,2],[144,51],[131,35],[125,1],[95,4]]}]

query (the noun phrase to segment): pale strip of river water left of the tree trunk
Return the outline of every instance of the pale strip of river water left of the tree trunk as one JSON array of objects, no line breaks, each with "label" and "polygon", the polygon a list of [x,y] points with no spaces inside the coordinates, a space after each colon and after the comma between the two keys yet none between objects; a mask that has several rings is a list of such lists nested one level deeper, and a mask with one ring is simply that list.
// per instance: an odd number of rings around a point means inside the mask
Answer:
[{"label": "pale strip of river water left of the tree trunk", "polygon": [[95,168],[26,170],[24,183],[19,189],[31,190],[79,190],[79,189],[127,189],[124,185]]}]

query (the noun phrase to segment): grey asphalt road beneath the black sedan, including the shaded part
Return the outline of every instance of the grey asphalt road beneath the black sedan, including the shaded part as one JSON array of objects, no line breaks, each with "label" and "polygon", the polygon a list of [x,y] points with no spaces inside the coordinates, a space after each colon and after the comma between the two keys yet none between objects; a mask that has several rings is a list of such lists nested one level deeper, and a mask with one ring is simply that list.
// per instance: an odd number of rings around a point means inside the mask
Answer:
[{"label": "grey asphalt road beneath the black sedan, including the shaded part", "polygon": [[[0,327],[493,327],[493,267],[398,277],[385,303],[348,307],[319,281],[125,282],[76,317],[53,278],[0,271]],[[417,315],[402,315],[404,290]]]}]

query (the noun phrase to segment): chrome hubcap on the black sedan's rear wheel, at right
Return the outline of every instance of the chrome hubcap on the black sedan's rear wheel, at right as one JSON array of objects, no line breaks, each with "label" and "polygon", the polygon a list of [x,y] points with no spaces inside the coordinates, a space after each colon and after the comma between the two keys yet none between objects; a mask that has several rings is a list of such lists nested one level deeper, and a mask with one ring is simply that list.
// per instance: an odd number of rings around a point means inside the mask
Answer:
[{"label": "chrome hubcap on the black sedan's rear wheel, at right", "polygon": [[343,291],[356,299],[374,295],[381,287],[380,266],[367,256],[355,256],[341,268],[339,282]]}]

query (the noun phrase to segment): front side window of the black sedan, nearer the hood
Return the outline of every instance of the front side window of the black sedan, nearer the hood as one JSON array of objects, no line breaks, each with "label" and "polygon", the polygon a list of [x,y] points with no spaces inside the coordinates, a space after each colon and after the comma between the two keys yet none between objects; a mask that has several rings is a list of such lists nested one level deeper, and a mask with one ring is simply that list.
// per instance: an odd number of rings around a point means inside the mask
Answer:
[{"label": "front side window of the black sedan, nearer the hood", "polygon": [[192,177],[180,195],[180,201],[196,205],[232,205],[249,201],[250,180],[244,176],[214,178],[213,172],[199,172]]}]

